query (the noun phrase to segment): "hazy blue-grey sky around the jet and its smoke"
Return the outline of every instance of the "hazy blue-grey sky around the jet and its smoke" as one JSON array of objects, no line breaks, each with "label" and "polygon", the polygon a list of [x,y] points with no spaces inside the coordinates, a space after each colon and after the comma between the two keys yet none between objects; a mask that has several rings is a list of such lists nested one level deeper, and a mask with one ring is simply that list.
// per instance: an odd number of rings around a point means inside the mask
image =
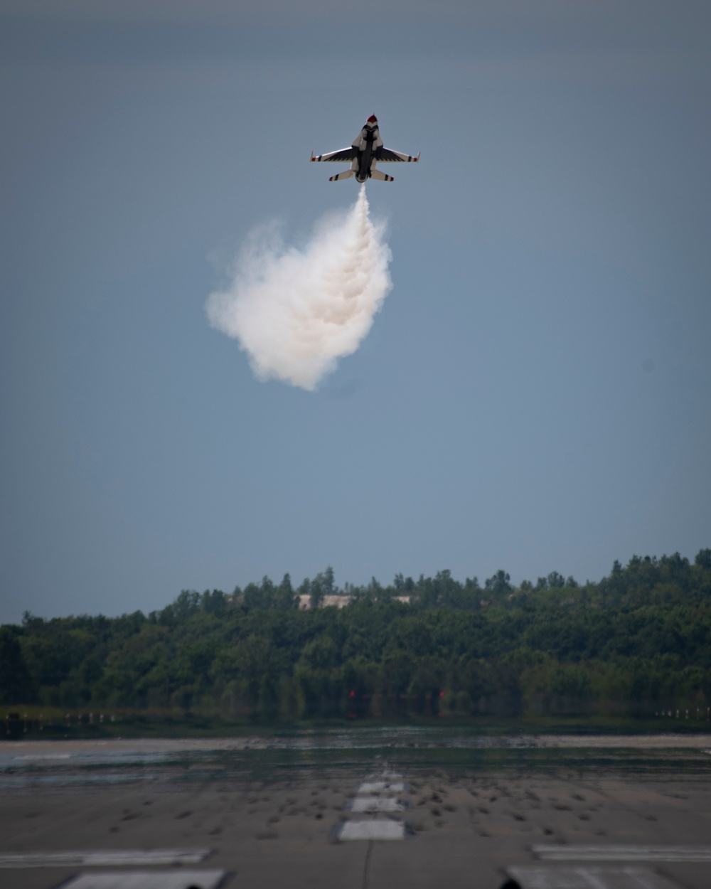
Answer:
[{"label": "hazy blue-grey sky around the jet and its smoke", "polygon": [[[711,546],[711,7],[5,0],[0,621]],[[316,392],[209,294],[356,201],[393,290]]]}]

